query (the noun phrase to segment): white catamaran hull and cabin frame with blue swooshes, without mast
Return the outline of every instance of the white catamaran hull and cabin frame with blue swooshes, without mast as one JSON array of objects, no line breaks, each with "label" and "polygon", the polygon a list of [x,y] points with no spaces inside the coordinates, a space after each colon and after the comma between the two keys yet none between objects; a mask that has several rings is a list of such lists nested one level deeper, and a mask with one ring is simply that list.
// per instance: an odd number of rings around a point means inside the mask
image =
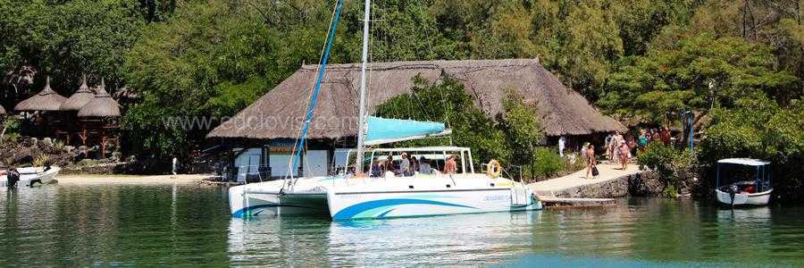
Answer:
[{"label": "white catamaran hull and cabin frame with blue swooshes, without mast", "polygon": [[461,161],[454,174],[436,172],[397,176],[386,172],[381,177],[343,174],[236,186],[229,192],[231,214],[234,217],[319,214],[341,221],[524,211],[542,207],[533,197],[532,188],[498,176],[494,167],[490,172],[474,172],[469,148],[391,148],[367,153],[401,155],[402,152],[455,154],[465,161]]}]

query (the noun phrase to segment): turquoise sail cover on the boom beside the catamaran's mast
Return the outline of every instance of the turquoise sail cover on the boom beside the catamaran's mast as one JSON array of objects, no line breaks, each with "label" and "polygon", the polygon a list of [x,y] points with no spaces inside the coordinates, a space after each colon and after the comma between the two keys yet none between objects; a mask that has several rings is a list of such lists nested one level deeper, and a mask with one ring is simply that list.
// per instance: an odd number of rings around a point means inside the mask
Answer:
[{"label": "turquoise sail cover on the boom beside the catamaran's mast", "polygon": [[444,133],[444,123],[440,122],[369,116],[368,131],[366,131],[364,143],[366,145],[377,145]]}]

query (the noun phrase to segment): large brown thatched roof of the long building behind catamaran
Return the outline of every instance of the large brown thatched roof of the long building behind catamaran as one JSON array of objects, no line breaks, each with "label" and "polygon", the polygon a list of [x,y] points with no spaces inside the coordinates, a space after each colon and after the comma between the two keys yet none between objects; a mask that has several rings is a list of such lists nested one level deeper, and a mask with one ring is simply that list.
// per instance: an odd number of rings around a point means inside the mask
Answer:
[{"label": "large brown thatched roof of the long building behind catamaran", "polygon": [[[276,88],[249,105],[208,138],[297,138],[318,65],[305,65]],[[448,75],[464,83],[475,105],[490,117],[502,112],[505,89],[515,88],[536,104],[549,136],[584,135],[626,130],[620,122],[595,110],[583,96],[566,88],[538,59],[372,63],[369,112],[390,97],[410,92],[412,78],[440,80]],[[309,138],[356,135],[360,64],[327,68]]]}]

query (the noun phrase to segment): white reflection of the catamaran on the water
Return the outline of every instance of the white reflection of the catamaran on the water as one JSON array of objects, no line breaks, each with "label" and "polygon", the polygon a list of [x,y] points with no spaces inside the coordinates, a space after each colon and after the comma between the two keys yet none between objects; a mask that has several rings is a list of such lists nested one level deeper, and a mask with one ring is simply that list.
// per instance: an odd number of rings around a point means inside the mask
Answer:
[{"label": "white reflection of the catamaran on the water", "polygon": [[[540,224],[541,214],[525,211],[348,222],[331,222],[326,216],[232,219],[230,263],[314,267],[493,264],[493,260],[515,255],[534,243],[532,225]],[[518,249],[512,250],[512,245]]]}]

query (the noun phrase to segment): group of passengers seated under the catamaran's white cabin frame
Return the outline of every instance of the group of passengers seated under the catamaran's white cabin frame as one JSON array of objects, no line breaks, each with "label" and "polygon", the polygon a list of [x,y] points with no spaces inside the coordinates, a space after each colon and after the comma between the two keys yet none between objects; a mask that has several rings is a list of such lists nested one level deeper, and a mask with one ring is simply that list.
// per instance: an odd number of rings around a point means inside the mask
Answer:
[{"label": "group of passengers seated under the catamaran's white cabin frame", "polygon": [[[401,177],[409,177],[413,176],[416,173],[419,174],[433,174],[433,173],[440,173],[438,168],[434,167],[436,165],[435,162],[427,159],[422,155],[418,159],[415,155],[407,155],[407,153],[402,153],[400,155],[400,159],[397,162],[394,161],[392,155],[388,155],[386,160],[381,161],[373,161],[372,162],[372,177],[381,177],[381,176],[401,176]],[[447,159],[444,161],[444,172],[447,174],[452,174],[457,172],[457,163],[455,159],[455,155],[448,155]]]}]

